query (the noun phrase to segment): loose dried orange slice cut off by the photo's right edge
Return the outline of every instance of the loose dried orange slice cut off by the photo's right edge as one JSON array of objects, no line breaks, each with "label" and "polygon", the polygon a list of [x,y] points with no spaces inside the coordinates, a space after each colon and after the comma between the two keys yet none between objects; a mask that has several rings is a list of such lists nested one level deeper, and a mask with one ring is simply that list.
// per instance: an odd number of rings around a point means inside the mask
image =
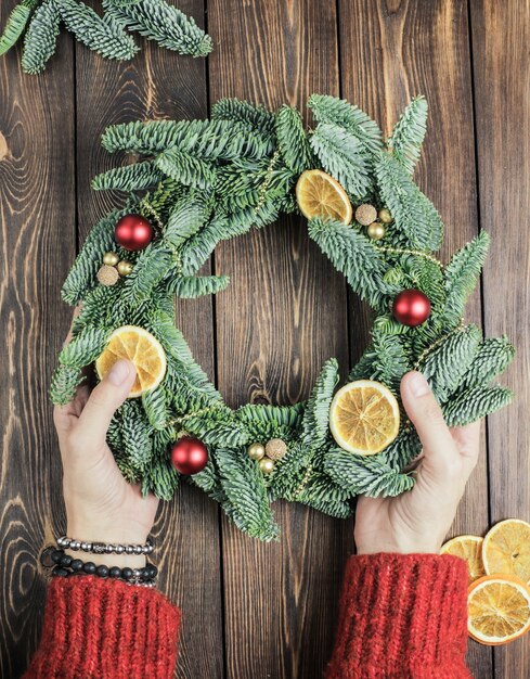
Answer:
[{"label": "loose dried orange slice cut off by the photo's right edge", "polygon": [[530,585],[530,524],[507,518],[495,524],[482,545],[486,573],[515,575]]}]

